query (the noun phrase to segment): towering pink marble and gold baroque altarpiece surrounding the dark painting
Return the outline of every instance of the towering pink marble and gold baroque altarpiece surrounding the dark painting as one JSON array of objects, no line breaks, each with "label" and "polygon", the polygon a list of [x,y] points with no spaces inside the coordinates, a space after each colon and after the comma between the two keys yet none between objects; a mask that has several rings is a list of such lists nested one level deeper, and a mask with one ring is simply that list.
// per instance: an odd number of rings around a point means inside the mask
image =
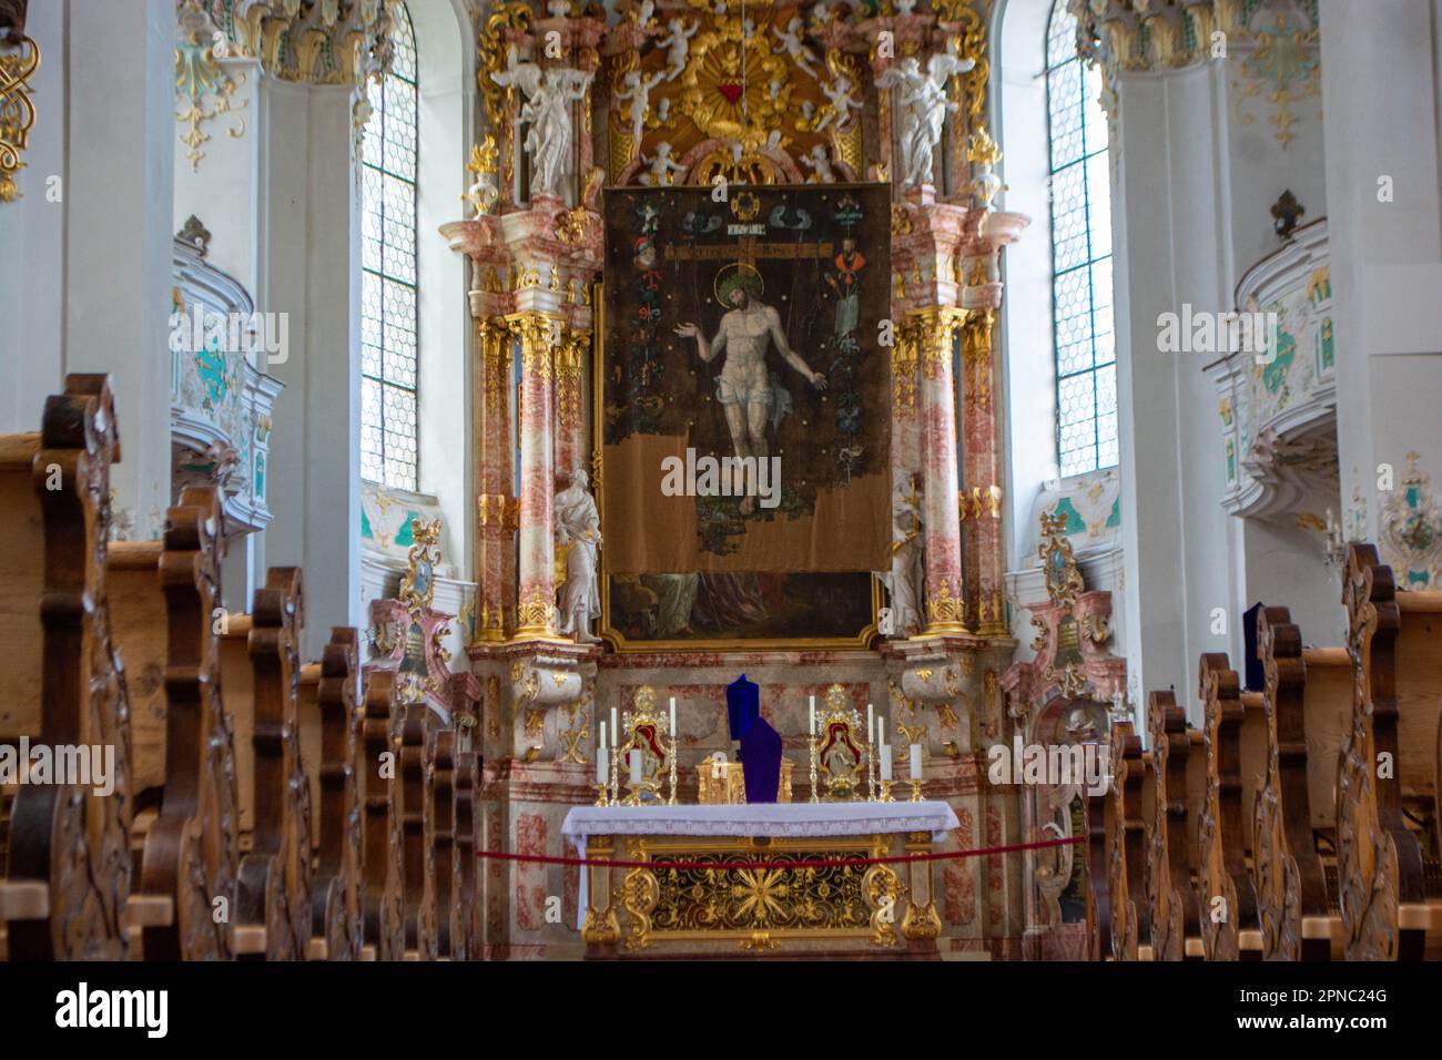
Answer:
[{"label": "towering pink marble and gold baroque altarpiece surrounding the dark painting", "polygon": [[[921,746],[926,798],[960,822],[940,849],[1030,838],[985,756],[1011,736],[1015,649],[999,255],[1028,219],[994,203],[986,6],[917,7],[482,17],[470,209],[441,232],[472,277],[489,849],[558,852],[567,811],[594,798],[601,720],[642,688],[676,699],[695,802],[743,671],[797,799],[808,697],[839,684]],[[773,324],[722,320],[740,310]],[[665,457],[721,456],[779,457],[779,487],[662,489]],[[942,864],[916,930],[1019,956],[1021,862]],[[490,956],[581,952],[575,867],[483,875]]]}]

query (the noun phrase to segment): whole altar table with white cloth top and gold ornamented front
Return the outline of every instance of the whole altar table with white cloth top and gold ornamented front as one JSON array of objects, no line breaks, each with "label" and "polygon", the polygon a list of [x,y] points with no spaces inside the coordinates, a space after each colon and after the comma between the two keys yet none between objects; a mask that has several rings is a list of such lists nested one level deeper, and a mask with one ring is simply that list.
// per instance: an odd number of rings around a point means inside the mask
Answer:
[{"label": "whole altar table with white cloth top and gold ornamented front", "polygon": [[[688,862],[585,865],[578,926],[588,955],[872,956],[934,952],[934,862],[786,862],[929,854],[956,826],[945,802],[793,802],[577,806],[561,834],[581,857]],[[737,861],[782,864],[707,867]]]}]

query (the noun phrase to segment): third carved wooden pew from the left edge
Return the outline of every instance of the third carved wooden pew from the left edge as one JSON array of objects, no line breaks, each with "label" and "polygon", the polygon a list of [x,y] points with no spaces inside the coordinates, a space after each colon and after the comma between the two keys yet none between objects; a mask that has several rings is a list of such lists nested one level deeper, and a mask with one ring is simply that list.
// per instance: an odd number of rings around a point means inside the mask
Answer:
[{"label": "third carved wooden pew from the left edge", "polygon": [[[241,857],[231,945],[238,956],[304,959],[310,949],[310,782],[300,759],[300,571],[273,568],[251,614],[221,642],[221,688],[235,723]],[[247,829],[248,825],[248,829]]]}]

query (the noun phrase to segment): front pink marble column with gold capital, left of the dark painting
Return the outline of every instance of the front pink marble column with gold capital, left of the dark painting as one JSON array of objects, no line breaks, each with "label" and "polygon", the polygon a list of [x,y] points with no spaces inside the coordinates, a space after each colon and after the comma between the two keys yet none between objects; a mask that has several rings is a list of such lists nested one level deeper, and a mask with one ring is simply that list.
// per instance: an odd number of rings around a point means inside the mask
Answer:
[{"label": "front pink marble column with gold capital, left of the dark painting", "polygon": [[519,339],[521,356],[521,552],[516,636],[555,635],[552,317],[513,313],[506,317]]}]

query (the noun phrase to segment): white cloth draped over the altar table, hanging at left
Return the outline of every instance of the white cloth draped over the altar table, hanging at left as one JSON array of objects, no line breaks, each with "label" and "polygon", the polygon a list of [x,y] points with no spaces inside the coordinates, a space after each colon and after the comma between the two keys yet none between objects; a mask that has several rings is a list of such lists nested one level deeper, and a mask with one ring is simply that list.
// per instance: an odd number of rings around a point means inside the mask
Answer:
[{"label": "white cloth draped over the altar table, hanging at left", "polygon": [[[940,842],[959,828],[945,802],[760,802],[707,806],[574,806],[561,835],[585,857],[591,835],[740,835],[806,839],[832,835],[930,832]],[[577,929],[585,923],[587,875],[581,868]]]}]

